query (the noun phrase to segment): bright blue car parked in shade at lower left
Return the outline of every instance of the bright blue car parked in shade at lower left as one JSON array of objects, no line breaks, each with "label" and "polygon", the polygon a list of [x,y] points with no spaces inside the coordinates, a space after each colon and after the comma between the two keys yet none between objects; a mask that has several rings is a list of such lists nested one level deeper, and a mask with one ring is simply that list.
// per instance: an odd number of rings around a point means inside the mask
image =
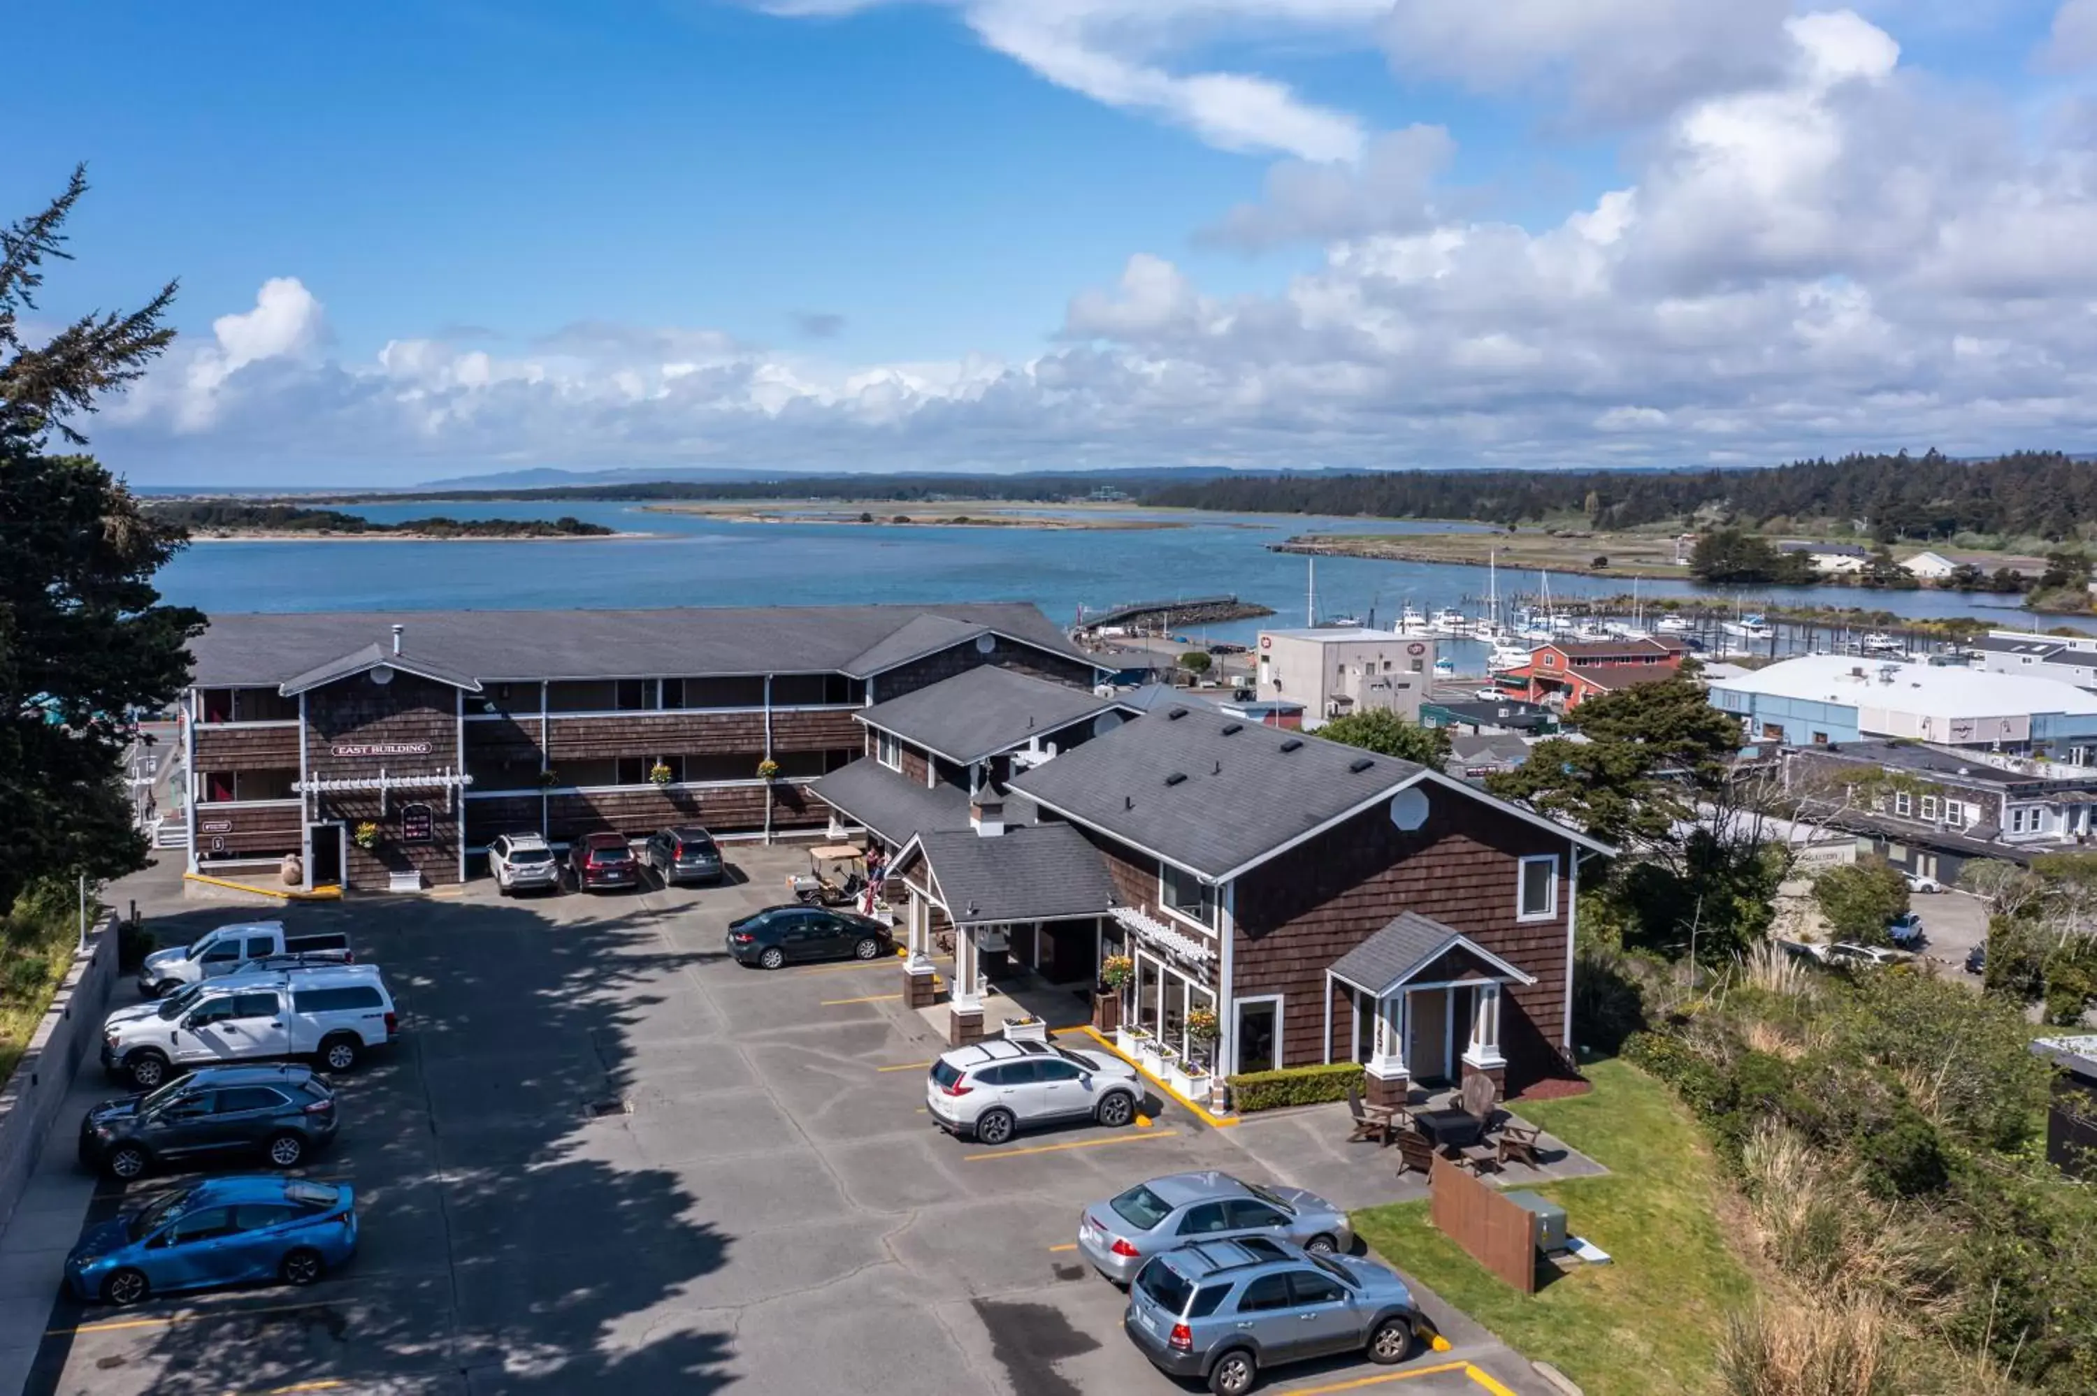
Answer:
[{"label": "bright blue car parked in shade at lower left", "polygon": [[212,1178],[94,1226],[65,1258],[84,1302],[250,1281],[310,1285],[356,1253],[356,1195],[344,1182]]}]

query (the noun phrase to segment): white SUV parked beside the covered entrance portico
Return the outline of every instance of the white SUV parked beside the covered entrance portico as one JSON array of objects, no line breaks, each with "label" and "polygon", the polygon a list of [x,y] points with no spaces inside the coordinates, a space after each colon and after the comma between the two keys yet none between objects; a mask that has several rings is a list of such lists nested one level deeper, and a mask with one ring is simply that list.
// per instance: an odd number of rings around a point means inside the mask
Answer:
[{"label": "white SUV parked beside the covered entrance portico", "polygon": [[954,1048],[925,1082],[931,1117],[986,1144],[1002,1144],[1019,1126],[1059,1119],[1120,1128],[1137,1117],[1139,1100],[1137,1069],[1111,1052],[1004,1038]]}]

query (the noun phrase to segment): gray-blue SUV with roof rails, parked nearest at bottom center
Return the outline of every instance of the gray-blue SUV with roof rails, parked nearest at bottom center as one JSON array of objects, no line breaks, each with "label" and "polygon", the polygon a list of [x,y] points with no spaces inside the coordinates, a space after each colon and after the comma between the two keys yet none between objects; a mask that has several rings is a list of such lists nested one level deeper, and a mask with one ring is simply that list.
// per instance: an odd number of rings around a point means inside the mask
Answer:
[{"label": "gray-blue SUV with roof rails, parked nearest at bottom center", "polygon": [[1267,1367],[1336,1352],[1403,1362],[1432,1329],[1413,1293],[1374,1260],[1313,1256],[1288,1241],[1202,1241],[1153,1256],[1128,1287],[1128,1337],[1164,1373],[1244,1396]]}]

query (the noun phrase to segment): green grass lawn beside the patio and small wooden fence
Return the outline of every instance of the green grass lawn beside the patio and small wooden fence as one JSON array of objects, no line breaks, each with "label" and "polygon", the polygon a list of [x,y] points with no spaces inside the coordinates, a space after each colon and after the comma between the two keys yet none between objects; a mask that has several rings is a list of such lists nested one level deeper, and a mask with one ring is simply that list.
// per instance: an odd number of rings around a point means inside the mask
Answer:
[{"label": "green grass lawn beside the patio and small wooden fence", "polygon": [[1720,1230],[1717,1165],[1661,1082],[1621,1061],[1596,1063],[1587,1079],[1590,1094],[1525,1103],[1520,1115],[1610,1170],[1537,1191],[1613,1264],[1560,1274],[1531,1297],[1434,1230],[1424,1201],[1357,1212],[1355,1230],[1590,1396],[1711,1390],[1726,1312],[1755,1293]]}]

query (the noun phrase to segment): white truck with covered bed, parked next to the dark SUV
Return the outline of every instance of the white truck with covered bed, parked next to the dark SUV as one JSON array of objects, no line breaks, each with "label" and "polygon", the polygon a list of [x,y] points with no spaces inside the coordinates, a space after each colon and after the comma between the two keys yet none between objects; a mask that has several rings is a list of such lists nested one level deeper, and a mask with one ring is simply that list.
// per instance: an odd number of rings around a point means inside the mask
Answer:
[{"label": "white truck with covered bed, parked next to the dark SUV", "polygon": [[327,1071],[348,1071],[394,1031],[392,994],[375,964],[226,975],[147,1015],[109,1015],[103,1069],[128,1075],[138,1090],[195,1067],[283,1056],[315,1056]]}]

